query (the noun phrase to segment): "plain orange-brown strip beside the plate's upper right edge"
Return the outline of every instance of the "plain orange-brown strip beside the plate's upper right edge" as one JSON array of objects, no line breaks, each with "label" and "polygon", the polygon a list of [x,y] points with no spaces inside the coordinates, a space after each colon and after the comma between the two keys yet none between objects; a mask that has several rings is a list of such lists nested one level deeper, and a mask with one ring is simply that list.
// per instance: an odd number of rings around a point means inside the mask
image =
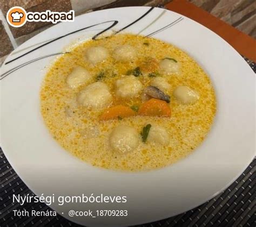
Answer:
[{"label": "plain orange-brown strip beside the plate's upper right edge", "polygon": [[208,27],[220,37],[225,39],[241,55],[256,62],[256,40],[245,33],[240,32],[231,25],[226,24],[217,17],[186,0],[174,0],[165,5],[166,9],[178,12],[196,22]]}]

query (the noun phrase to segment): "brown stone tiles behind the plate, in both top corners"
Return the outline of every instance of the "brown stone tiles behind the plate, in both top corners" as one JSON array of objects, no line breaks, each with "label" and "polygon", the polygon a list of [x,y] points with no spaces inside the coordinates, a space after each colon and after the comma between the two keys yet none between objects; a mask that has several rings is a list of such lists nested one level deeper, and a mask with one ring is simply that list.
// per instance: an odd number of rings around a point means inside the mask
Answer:
[{"label": "brown stone tiles behind the plate, in both top corners", "polygon": [[[100,9],[136,5],[165,5],[172,0],[0,0],[0,65],[8,54],[24,41],[52,26],[51,23],[26,23],[9,31],[4,27],[6,12],[13,6],[21,6],[26,11],[41,12],[75,10],[81,15]],[[256,1],[255,0],[187,0],[210,12],[215,17],[256,38]],[[6,24],[6,23],[5,23]],[[9,32],[9,35],[8,35]]]}]

